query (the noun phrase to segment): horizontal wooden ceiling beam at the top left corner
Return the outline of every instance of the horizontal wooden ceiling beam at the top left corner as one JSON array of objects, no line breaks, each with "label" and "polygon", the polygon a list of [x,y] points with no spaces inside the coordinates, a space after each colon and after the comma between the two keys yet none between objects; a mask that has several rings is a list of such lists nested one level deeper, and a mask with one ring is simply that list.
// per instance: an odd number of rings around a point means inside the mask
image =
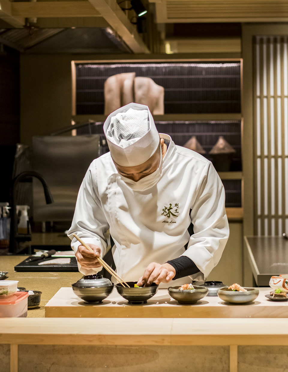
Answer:
[{"label": "horizontal wooden ceiling beam at the top left corner", "polygon": [[11,3],[11,12],[25,18],[101,17],[89,1],[19,1]]}]

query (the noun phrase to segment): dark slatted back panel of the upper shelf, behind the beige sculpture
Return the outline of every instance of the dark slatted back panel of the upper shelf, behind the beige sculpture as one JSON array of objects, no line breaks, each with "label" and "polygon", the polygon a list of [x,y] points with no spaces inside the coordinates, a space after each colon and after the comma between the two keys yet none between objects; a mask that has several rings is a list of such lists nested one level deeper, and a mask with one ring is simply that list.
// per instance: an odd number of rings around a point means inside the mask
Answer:
[{"label": "dark slatted back panel of the upper shelf, behind the beige sculpture", "polygon": [[169,113],[239,113],[240,62],[76,64],[77,115],[104,113],[104,82],[135,72],[165,89]]}]

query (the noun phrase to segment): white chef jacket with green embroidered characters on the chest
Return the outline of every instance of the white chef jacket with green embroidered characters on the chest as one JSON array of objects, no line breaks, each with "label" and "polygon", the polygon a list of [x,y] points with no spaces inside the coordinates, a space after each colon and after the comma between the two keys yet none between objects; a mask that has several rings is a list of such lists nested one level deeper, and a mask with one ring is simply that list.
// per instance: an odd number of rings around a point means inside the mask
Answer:
[{"label": "white chef jacket with green embroidered characters on the chest", "polygon": [[[112,248],[117,273],[125,281],[136,281],[151,262],[165,263],[179,256],[189,257],[200,272],[176,279],[170,285],[204,281],[219,262],[229,237],[223,184],[210,161],[169,140],[163,158],[162,176],[146,191],[133,191],[121,179],[110,153],[93,160],[80,186],[68,236],[77,251],[80,243]],[[192,222],[194,234],[187,229]],[[188,248],[184,246],[188,243]],[[101,270],[83,269],[91,275]],[[114,278],[112,278],[113,281]]]}]

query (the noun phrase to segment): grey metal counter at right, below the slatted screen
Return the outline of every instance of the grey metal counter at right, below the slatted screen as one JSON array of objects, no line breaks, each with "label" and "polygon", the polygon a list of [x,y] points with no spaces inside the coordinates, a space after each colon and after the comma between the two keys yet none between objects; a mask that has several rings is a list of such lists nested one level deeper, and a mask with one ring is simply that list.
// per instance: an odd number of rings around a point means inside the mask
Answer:
[{"label": "grey metal counter at right, below the slatted screen", "polygon": [[272,275],[288,273],[288,240],[282,236],[244,237],[249,263],[258,286],[269,286]]}]

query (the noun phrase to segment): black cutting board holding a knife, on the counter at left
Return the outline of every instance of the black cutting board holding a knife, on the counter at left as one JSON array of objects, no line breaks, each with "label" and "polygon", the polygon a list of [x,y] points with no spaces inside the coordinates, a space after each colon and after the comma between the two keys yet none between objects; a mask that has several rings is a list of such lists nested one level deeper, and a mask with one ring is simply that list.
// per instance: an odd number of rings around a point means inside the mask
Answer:
[{"label": "black cutting board holding a knife, on the counter at left", "polygon": [[[31,257],[31,256],[30,256]],[[27,257],[24,261],[20,262],[16,266],[14,266],[15,271],[79,271],[77,260],[75,257],[70,257],[71,261],[70,263],[66,264],[55,264],[55,265],[38,265],[39,262],[49,261],[53,258],[59,258],[59,257],[47,257],[38,261],[31,261],[31,262],[25,262],[29,257]]]}]

